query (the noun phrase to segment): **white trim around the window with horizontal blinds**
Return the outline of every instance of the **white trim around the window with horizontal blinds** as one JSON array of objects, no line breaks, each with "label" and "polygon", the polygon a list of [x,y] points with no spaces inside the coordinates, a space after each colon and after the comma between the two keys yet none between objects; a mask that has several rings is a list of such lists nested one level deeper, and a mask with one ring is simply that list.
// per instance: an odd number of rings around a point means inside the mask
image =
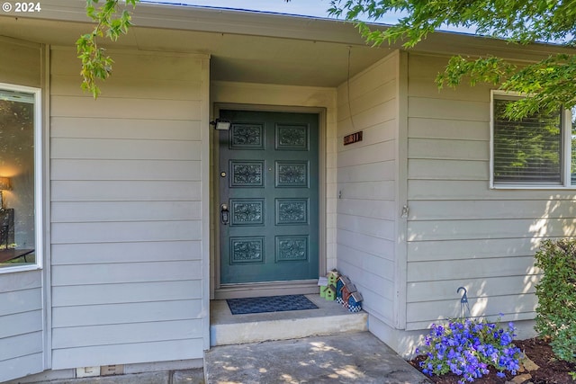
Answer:
[{"label": "white trim around the window with horizontal blinds", "polygon": [[[490,98],[490,188],[495,190],[562,190],[576,189],[576,185],[571,185],[571,165],[572,165],[572,127],[567,126],[572,122],[572,112],[564,110],[563,112],[563,183],[562,184],[507,184],[494,183],[494,99],[498,96],[510,96],[514,98],[522,97],[523,94],[517,92],[505,92],[491,90]],[[568,156],[568,157],[567,157]]]}]

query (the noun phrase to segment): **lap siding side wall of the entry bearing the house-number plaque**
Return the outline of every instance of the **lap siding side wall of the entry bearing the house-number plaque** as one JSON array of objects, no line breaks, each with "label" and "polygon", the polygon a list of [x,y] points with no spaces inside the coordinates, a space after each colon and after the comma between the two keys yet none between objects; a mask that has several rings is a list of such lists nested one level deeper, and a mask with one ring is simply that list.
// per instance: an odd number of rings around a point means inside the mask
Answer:
[{"label": "lap siding side wall of the entry bearing the house-number plaque", "polygon": [[[338,88],[338,269],[364,308],[392,324],[394,307],[397,53]],[[349,101],[348,101],[349,97]],[[343,137],[363,131],[363,140]]]}]

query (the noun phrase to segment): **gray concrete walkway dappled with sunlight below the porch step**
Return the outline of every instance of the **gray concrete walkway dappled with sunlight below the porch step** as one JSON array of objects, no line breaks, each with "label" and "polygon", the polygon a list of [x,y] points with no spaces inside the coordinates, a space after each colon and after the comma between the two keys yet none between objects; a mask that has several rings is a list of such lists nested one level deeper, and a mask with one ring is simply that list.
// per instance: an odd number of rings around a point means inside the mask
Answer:
[{"label": "gray concrete walkway dappled with sunlight below the porch step", "polygon": [[368,332],[212,347],[207,384],[430,383]]}]

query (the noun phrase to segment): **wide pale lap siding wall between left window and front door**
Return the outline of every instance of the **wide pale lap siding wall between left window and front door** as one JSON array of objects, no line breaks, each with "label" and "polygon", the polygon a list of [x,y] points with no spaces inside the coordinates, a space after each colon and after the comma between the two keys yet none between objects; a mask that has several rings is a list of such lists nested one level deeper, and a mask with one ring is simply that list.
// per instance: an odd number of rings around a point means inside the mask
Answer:
[{"label": "wide pale lap siding wall between left window and front door", "polygon": [[76,51],[51,51],[53,369],[208,347],[208,58],[112,55],[94,101]]}]

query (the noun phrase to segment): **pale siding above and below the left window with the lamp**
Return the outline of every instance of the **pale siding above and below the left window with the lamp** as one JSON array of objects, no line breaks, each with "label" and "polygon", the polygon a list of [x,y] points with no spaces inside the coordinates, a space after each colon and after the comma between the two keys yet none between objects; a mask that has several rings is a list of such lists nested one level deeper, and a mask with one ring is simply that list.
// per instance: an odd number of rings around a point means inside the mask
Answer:
[{"label": "pale siding above and below the left window with the lamp", "polygon": [[[40,55],[40,45],[0,37],[0,83],[40,88]],[[42,271],[0,274],[0,382],[43,370],[41,281]]]}]

